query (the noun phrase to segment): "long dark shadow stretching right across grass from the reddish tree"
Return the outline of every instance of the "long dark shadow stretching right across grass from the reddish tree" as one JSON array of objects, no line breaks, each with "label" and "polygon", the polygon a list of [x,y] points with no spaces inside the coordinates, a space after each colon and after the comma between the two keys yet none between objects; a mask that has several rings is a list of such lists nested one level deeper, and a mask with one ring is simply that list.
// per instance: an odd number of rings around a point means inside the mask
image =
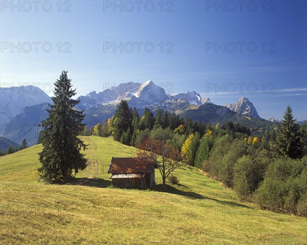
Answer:
[{"label": "long dark shadow stretching right across grass from the reddish tree", "polygon": [[[185,185],[177,184],[177,186],[181,186],[181,187],[188,189],[188,187],[185,186]],[[174,186],[170,186],[170,185],[166,185],[166,187],[163,188],[163,185],[159,184],[159,185],[155,186],[154,190],[159,191],[159,192],[166,192],[166,193],[182,195],[182,196],[186,196],[186,197],[191,198],[191,199],[209,199],[209,200],[217,202],[218,204],[221,204],[221,205],[228,205],[228,206],[232,206],[232,207],[242,207],[242,208],[249,208],[249,209],[252,208],[248,205],[237,203],[237,202],[218,200],[218,199],[215,199],[215,198],[203,196],[201,194],[198,194],[198,193],[195,193],[195,192],[192,192],[192,191],[179,190],[179,189],[175,188]]]}]

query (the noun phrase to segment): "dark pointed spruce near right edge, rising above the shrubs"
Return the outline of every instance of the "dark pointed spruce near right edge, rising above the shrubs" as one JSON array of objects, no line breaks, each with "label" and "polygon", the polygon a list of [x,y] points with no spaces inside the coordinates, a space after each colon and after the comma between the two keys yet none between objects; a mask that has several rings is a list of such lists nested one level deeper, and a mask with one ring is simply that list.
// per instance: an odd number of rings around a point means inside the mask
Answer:
[{"label": "dark pointed spruce near right edge, rising above the shrubs", "polygon": [[290,105],[287,106],[283,119],[277,134],[278,151],[284,156],[299,158],[301,155],[299,125],[293,119]]}]

